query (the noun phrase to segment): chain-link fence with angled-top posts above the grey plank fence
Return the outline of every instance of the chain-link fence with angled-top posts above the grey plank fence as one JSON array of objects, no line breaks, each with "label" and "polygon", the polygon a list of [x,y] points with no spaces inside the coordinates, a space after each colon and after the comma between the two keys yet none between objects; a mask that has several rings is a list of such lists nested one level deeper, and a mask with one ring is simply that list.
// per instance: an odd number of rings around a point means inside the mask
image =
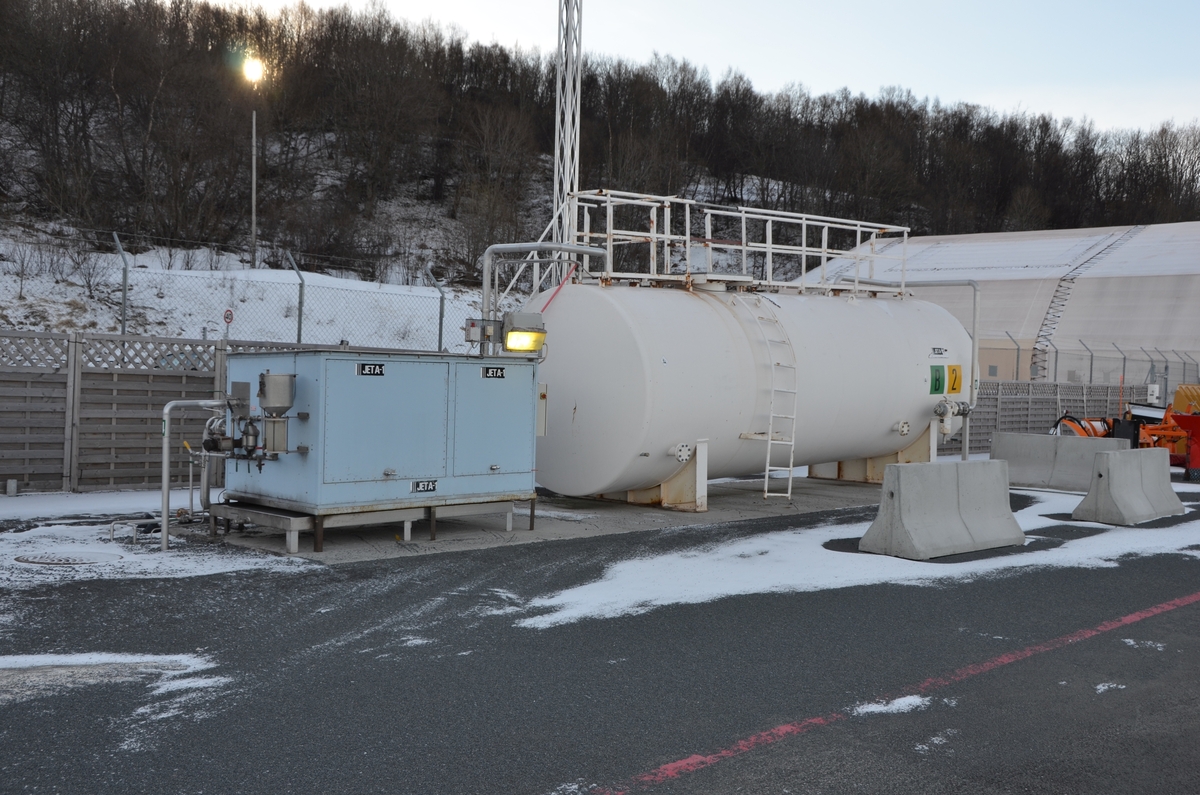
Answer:
[{"label": "chain-link fence with angled-top posts above the grey plank fence", "polygon": [[[462,327],[479,316],[479,291],[439,286],[427,268],[379,265],[380,280],[364,281],[293,269],[286,252],[275,255],[270,262],[284,269],[250,269],[236,250],[179,241],[128,249],[96,234],[4,241],[0,328],[468,349]],[[306,267],[364,273],[312,259],[302,257]]]}]

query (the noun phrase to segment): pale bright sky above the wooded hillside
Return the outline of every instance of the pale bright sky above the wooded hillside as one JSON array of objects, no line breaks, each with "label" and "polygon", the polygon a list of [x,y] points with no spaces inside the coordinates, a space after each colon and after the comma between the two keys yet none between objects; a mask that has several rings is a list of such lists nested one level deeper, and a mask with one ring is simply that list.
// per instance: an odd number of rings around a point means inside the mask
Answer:
[{"label": "pale bright sky above the wooded hillside", "polygon": [[[382,1],[473,41],[556,48],[556,0]],[[708,67],[714,80],[734,68],[761,91],[802,83],[875,96],[899,85],[943,103],[1087,116],[1100,128],[1200,118],[1198,37],[1200,0],[583,0],[589,53],[646,61],[658,52]]]}]

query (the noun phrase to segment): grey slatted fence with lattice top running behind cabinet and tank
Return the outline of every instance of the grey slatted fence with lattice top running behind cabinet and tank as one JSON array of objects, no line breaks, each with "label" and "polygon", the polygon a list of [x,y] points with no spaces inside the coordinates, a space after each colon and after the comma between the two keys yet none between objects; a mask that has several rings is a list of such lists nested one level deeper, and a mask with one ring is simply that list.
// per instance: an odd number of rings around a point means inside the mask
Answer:
[{"label": "grey slatted fence with lattice top running behind cabinet and tank", "polygon": [[[0,331],[0,488],[8,479],[22,491],[158,488],[167,401],[223,394],[229,352],[300,347],[311,346]],[[997,430],[1044,434],[1068,412],[1112,416],[1121,398],[1112,385],[983,382],[971,452],[986,453]],[[1145,401],[1146,387],[1124,387],[1123,399]],[[187,483],[182,442],[198,443],[208,417],[188,412],[173,420],[173,482]],[[940,449],[960,450],[958,437]]]}]

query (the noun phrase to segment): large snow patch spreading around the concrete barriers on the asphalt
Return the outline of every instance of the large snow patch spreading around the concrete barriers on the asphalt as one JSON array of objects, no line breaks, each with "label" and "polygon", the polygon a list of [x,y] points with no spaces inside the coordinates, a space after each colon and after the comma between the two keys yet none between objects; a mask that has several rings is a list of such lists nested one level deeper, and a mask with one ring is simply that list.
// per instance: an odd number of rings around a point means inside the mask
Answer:
[{"label": "large snow patch spreading around the concrete barriers on the asphalt", "polygon": [[[1046,514],[1070,514],[1080,496],[1018,491],[1036,502],[1018,512],[1026,534],[1063,525]],[[833,525],[755,536],[708,549],[670,552],[611,566],[600,580],[532,599],[539,615],[517,626],[544,629],[584,618],[611,618],[647,612],[670,604],[698,604],[728,596],[823,591],[858,585],[936,586],[1032,568],[1105,568],[1127,555],[1182,554],[1200,557],[1200,514],[1171,527],[1108,527],[1096,536],[1061,546],[985,560],[931,563],[883,555],[852,555],[824,548],[839,538],[860,537],[870,522]]]}]

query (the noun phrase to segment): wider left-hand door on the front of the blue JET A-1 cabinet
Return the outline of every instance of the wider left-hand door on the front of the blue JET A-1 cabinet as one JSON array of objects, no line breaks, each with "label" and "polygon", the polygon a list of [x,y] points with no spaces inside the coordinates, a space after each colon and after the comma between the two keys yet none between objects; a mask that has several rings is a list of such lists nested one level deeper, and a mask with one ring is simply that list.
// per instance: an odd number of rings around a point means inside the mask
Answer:
[{"label": "wider left-hand door on the front of the blue JET A-1 cabinet", "polygon": [[325,483],[445,477],[449,377],[444,361],[328,360]]}]

